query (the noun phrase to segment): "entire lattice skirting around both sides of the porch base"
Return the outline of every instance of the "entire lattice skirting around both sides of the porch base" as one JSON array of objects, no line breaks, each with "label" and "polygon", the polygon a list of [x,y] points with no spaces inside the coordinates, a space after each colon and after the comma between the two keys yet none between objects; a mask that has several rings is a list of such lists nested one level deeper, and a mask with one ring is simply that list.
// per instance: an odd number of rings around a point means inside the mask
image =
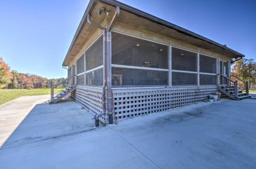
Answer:
[{"label": "entire lattice skirting around both sides of the porch base", "polygon": [[[152,114],[167,109],[204,101],[217,92],[215,86],[187,88],[113,89],[113,100],[117,121]],[[98,115],[101,107],[102,89],[77,87],[71,97],[91,114]],[[108,123],[108,117],[100,118]]]}]

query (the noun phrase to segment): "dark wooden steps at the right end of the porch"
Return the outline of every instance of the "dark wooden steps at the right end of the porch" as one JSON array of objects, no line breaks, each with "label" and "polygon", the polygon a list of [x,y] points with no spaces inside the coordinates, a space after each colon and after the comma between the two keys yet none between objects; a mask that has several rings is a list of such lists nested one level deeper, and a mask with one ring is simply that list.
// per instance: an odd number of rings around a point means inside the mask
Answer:
[{"label": "dark wooden steps at the right end of the porch", "polygon": [[226,96],[228,96],[230,99],[232,100],[242,100],[242,99],[246,99],[246,98],[250,98],[251,96],[245,92],[243,92],[242,90],[238,90],[237,96],[235,93],[235,87],[234,86],[218,86],[218,90],[219,92],[225,94]]}]

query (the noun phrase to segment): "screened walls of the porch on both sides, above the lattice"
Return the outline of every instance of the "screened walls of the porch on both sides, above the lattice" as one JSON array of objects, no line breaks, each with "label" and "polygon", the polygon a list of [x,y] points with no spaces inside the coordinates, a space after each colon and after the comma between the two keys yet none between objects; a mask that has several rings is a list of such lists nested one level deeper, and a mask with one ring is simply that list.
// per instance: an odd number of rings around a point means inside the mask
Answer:
[{"label": "screened walls of the porch on both sides, above the lattice", "polygon": [[[103,35],[75,63],[77,86],[101,88]],[[129,89],[216,86],[217,74],[228,76],[229,65],[200,52],[112,31],[111,65],[106,66],[111,67],[112,89]]]}]

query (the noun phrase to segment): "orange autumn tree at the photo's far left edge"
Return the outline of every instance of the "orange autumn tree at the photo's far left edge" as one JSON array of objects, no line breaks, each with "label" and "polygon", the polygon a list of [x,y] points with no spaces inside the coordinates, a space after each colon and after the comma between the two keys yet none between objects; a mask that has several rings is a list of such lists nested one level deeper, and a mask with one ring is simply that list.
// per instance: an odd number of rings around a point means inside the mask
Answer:
[{"label": "orange autumn tree at the photo's far left edge", "polygon": [[5,87],[11,80],[10,67],[0,58],[0,88]]}]

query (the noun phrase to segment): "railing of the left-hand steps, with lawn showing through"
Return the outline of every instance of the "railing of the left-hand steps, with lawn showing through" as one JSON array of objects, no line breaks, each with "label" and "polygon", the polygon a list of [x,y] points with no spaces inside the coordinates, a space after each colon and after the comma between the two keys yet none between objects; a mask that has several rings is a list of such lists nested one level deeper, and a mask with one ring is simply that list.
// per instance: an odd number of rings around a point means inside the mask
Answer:
[{"label": "railing of the left-hand steps, with lawn showing through", "polygon": [[[60,92],[63,90],[63,88],[68,88],[70,86],[75,86],[75,77],[76,75],[72,75],[66,79],[64,79],[63,81],[57,83],[56,85],[53,85],[53,82],[51,81],[51,101],[53,100],[53,98]],[[60,86],[62,85],[62,86]],[[58,91],[54,91],[54,89],[58,89]]]}]

